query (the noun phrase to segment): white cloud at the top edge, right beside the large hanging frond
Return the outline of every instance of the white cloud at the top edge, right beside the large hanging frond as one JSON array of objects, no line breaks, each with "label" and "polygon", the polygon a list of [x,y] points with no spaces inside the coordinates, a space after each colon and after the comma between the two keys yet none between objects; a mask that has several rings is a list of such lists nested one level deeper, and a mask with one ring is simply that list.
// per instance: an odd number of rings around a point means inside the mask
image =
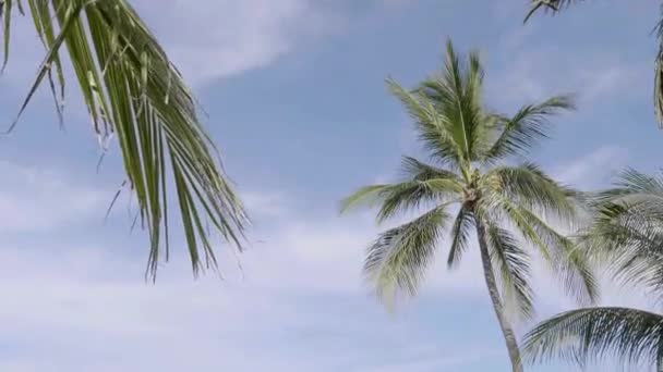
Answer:
[{"label": "white cloud at the top edge, right beside the large hanging frond", "polygon": [[311,0],[140,0],[140,13],[194,84],[262,67],[341,18]]}]

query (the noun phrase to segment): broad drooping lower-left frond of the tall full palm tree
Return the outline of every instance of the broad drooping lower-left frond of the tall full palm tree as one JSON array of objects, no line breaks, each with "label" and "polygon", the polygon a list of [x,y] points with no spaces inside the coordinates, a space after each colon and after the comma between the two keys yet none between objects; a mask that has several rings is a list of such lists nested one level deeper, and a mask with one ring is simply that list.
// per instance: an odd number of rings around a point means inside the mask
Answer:
[{"label": "broad drooping lower-left frond of the tall full palm tree", "polygon": [[449,219],[445,208],[443,204],[386,231],[369,248],[364,273],[378,297],[387,303],[401,294],[417,294]]}]

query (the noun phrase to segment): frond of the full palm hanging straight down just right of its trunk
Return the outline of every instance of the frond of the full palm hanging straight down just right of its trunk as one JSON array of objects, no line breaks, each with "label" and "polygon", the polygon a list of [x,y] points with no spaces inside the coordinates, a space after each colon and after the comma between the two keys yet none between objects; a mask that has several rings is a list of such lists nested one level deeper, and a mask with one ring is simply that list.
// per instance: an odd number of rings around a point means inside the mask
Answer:
[{"label": "frond of the full palm hanging straight down just right of its trunk", "polygon": [[502,297],[509,308],[518,310],[520,318],[530,320],[534,315],[530,258],[517,243],[509,232],[489,223],[487,244],[491,261],[502,284]]}]

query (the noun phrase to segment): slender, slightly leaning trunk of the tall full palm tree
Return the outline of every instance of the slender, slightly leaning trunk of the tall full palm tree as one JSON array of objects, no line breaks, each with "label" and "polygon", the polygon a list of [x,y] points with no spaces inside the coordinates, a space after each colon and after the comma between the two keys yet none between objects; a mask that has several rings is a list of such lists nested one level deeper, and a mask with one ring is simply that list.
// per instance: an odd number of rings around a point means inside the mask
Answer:
[{"label": "slender, slightly leaning trunk of the tall full palm tree", "polygon": [[504,307],[502,305],[499,290],[497,289],[497,282],[495,281],[495,273],[493,272],[493,265],[491,263],[491,255],[489,253],[485,226],[481,219],[477,219],[477,236],[479,238],[479,248],[481,250],[481,262],[483,264],[485,285],[489,289],[489,294],[491,295],[491,300],[493,301],[493,308],[495,310],[497,321],[499,322],[504,340],[506,342],[506,348],[509,351],[509,358],[511,360],[514,372],[522,372],[522,361],[520,359],[518,340],[516,339],[516,334],[514,333],[511,325],[504,314]]}]

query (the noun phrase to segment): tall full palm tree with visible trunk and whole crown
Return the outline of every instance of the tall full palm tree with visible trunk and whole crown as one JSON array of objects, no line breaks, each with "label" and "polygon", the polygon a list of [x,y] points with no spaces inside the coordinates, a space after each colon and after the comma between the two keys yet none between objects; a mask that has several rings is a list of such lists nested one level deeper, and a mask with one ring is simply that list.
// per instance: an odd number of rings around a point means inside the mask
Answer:
[{"label": "tall full palm tree with visible trunk and whole crown", "polygon": [[[531,162],[506,163],[511,157],[527,154],[545,138],[549,116],[571,109],[571,99],[554,97],[528,104],[511,117],[491,112],[482,101],[483,70],[478,54],[470,53],[467,63],[461,63],[450,41],[446,65],[437,76],[413,91],[394,80],[388,80],[388,85],[412,116],[419,140],[433,163],[406,157],[406,179],[366,186],[343,200],[341,211],[378,206],[378,222],[400,212],[426,210],[382,233],[367,249],[364,272],[384,300],[413,296],[451,220],[447,235],[449,268],[456,266],[470,248],[470,234],[474,231],[485,284],[513,369],[522,371],[507,307],[513,306],[521,319],[534,313],[531,250],[526,245],[560,275],[564,286],[579,299],[593,299],[596,295],[581,251],[575,250],[571,240],[545,219],[572,221],[579,195]],[[458,208],[455,218],[450,215],[454,207]]]}]

